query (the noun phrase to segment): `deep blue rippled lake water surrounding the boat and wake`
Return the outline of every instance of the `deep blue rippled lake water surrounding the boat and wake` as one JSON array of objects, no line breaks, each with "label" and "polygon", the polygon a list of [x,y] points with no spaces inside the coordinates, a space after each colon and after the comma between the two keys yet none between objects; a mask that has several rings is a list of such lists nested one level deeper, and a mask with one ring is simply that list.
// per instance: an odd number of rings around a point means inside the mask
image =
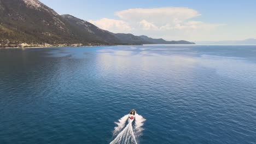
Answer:
[{"label": "deep blue rippled lake water surrounding the boat and wake", "polygon": [[0,50],[0,143],[256,143],[256,46]]}]

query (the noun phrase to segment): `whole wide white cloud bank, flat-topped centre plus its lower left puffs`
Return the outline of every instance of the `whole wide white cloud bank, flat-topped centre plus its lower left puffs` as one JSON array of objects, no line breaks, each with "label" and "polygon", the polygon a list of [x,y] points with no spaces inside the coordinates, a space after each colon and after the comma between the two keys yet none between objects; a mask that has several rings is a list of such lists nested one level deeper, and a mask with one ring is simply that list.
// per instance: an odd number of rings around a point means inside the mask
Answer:
[{"label": "whole wide white cloud bank, flat-topped centre plus its lower left puffs", "polygon": [[103,18],[89,22],[111,32],[147,34],[150,37],[167,38],[167,40],[191,40],[194,38],[192,34],[195,33],[203,38],[209,31],[222,26],[218,23],[195,21],[193,18],[201,14],[194,9],[181,7],[127,9],[117,11],[115,15],[120,20]]}]

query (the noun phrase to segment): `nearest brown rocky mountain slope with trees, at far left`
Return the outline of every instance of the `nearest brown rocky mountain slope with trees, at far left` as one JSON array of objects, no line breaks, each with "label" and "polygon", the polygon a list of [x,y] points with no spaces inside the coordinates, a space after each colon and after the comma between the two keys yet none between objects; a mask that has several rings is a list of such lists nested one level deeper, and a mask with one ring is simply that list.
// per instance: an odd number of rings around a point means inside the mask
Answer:
[{"label": "nearest brown rocky mountain slope with trees, at far left", "polygon": [[0,0],[0,9],[2,41],[8,39],[14,44],[108,44],[91,31],[72,25],[63,19],[65,16],[37,0]]}]

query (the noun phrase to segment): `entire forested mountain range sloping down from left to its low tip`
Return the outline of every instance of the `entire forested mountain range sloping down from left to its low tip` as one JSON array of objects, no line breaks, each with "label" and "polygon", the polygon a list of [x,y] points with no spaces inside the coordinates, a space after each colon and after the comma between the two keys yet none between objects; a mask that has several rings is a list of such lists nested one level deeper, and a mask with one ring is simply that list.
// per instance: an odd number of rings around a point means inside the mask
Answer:
[{"label": "entire forested mountain range sloping down from left to its low tip", "polygon": [[59,15],[38,0],[0,0],[0,47],[117,44],[194,43],[112,33],[77,17]]}]

